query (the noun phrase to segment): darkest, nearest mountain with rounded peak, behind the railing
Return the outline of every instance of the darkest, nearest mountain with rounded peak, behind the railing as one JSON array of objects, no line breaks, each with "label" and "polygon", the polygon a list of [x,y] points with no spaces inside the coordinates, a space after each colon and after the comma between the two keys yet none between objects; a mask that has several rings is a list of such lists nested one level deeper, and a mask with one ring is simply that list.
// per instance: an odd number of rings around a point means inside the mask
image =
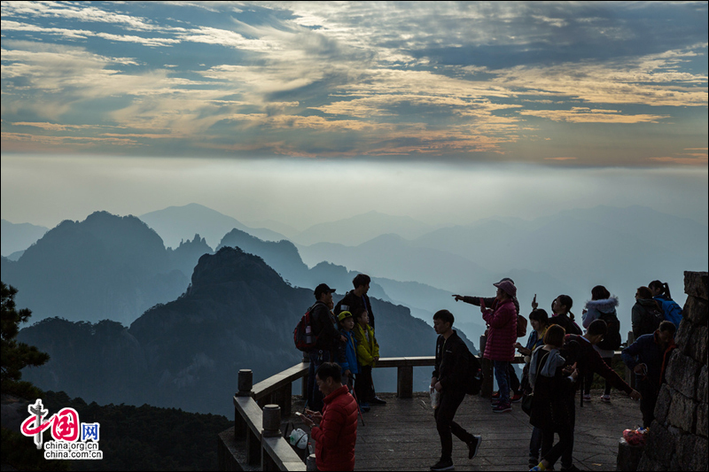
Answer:
[{"label": "darkest, nearest mountain with rounded peak, behind the railing", "polygon": [[[87,401],[230,415],[239,369],[253,369],[258,382],[300,361],[292,330],[314,302],[312,290],[291,287],[263,259],[224,247],[199,259],[183,296],[129,329],[59,319],[22,329],[21,342],[51,355],[23,379]],[[404,306],[371,302],[383,357],[432,355],[431,327]],[[378,388],[393,391],[395,369],[386,370],[392,380]]]}]

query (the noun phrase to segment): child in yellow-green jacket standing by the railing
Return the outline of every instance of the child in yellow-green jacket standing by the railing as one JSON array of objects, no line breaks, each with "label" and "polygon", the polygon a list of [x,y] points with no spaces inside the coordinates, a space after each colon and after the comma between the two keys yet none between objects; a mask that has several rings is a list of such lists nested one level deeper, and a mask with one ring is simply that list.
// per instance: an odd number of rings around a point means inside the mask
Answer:
[{"label": "child in yellow-green jacket standing by the railing", "polygon": [[[360,403],[360,409],[366,413],[370,411],[370,402],[374,398],[371,369],[379,360],[379,344],[374,337],[374,329],[369,324],[367,310],[363,306],[357,306],[352,314],[354,315],[354,339],[357,342],[357,360],[360,363],[360,372],[354,379],[354,394]],[[386,403],[381,399],[379,402]]]}]

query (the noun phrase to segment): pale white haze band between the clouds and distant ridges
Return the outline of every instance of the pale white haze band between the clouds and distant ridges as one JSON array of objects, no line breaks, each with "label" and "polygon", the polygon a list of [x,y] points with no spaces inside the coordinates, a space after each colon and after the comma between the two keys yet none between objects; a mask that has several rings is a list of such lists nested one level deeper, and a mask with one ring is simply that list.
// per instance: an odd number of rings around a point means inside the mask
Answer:
[{"label": "pale white haze band between the clouds and distant ridges", "polygon": [[[191,203],[252,226],[298,231],[377,211],[430,225],[526,220],[597,205],[642,205],[707,224],[707,169],[30,157],[4,153],[2,218],[48,228],[95,211],[134,214]],[[56,179],[58,173],[63,179]]]}]

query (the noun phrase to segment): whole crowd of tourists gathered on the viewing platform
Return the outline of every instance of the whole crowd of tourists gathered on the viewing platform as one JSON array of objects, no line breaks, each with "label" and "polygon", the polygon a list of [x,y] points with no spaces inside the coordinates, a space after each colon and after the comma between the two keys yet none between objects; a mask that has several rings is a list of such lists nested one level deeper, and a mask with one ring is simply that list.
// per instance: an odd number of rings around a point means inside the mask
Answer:
[{"label": "whole crowd of tourists gathered on the viewing platform", "polygon": [[[308,344],[310,375],[302,418],[316,442],[318,470],[353,470],[358,417],[371,406],[386,405],[371,376],[379,360],[379,345],[367,296],[370,282],[369,276],[357,275],[354,290],[337,305],[332,300],[335,290],[321,283],[315,290],[316,304],[308,310],[314,337],[308,338],[312,342]],[[529,414],[534,427],[529,440],[530,470],[553,470],[557,461],[561,470],[578,470],[573,465],[575,398],[580,392],[581,405],[592,401],[594,375],[605,382],[598,400],[611,402],[613,388],[623,391],[640,400],[643,426],[651,425],[668,354],[676,347],[674,333],[682,321],[682,308],[671,298],[666,283],[653,281],[635,292],[631,313],[635,342],[621,353],[622,361],[635,373],[635,389],[612,368],[613,355],[621,347],[619,303],[604,286],[591,290],[580,326],[568,295],[552,301],[551,314],[539,307],[534,295],[531,312],[525,317],[514,281],[505,278],[493,285],[495,297],[453,297],[479,306],[487,324],[482,357],[492,363],[498,386],[492,398],[493,413],[510,413],[513,403],[521,403]],[[526,337],[527,320],[532,330],[523,345],[518,338]],[[471,372],[471,353],[453,329],[454,322],[448,310],[433,315],[439,337],[431,392],[441,448],[440,460],[431,466],[434,471],[454,468],[453,436],[466,445],[469,459],[478,454],[482,443],[481,436],[454,421],[466,392],[470,393]],[[515,351],[525,360],[521,379],[512,366]]]}]

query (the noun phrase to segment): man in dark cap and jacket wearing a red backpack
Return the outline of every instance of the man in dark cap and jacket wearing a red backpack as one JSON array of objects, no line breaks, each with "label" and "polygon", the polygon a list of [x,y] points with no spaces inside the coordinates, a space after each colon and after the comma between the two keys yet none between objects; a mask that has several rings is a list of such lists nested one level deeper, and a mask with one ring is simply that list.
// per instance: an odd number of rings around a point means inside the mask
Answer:
[{"label": "man in dark cap and jacket wearing a red backpack", "polygon": [[339,343],[347,342],[347,337],[339,333],[337,318],[330,311],[334,291],[326,283],[318,285],[315,290],[316,304],[310,308],[312,330],[317,342],[316,349],[308,352],[308,406],[316,411],[323,409],[323,395],[316,389],[316,370],[323,362],[336,360]]}]

